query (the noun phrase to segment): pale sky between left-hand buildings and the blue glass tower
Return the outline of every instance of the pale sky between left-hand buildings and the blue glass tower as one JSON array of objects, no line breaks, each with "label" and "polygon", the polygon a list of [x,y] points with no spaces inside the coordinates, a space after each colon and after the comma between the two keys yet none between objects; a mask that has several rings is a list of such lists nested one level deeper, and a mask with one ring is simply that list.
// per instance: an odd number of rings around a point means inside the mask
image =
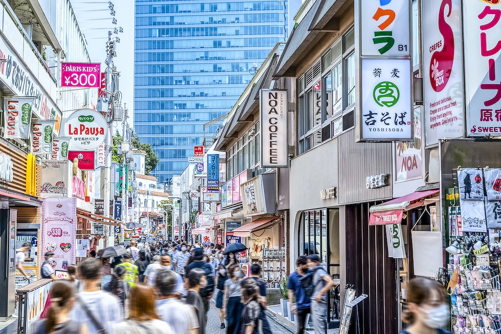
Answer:
[{"label": "pale sky between left-hand buildings and the blue glass tower", "polygon": [[[106,67],[106,42],[108,31],[123,28],[118,33],[120,43],[116,44],[117,57],[113,63],[120,72],[120,91],[122,103],[129,108],[129,124],[132,126],[134,107],[134,0],[112,0],[117,24],[108,8],[108,0],[71,0],[78,25],[87,42],[87,50],[92,62],[101,63],[101,69]],[[103,72],[103,71],[102,71]]]}]

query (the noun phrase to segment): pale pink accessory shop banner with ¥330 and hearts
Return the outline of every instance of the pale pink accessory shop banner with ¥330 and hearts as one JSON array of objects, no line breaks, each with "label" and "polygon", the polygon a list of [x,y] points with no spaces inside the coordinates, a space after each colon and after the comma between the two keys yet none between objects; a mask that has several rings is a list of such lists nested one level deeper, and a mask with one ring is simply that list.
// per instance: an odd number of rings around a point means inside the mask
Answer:
[{"label": "pale pink accessory shop banner with \u00a5330 and hearts", "polygon": [[54,252],[49,264],[66,271],[76,261],[77,199],[44,198],[41,222],[40,252]]}]

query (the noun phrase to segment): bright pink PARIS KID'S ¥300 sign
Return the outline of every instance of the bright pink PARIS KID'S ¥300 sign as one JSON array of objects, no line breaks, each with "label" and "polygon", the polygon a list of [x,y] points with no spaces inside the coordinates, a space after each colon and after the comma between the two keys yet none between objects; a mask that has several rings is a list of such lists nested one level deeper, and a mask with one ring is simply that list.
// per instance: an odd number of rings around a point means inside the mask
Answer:
[{"label": "bright pink PARIS KID'S \u00a5300 sign", "polygon": [[101,88],[101,64],[62,63],[61,87]]}]

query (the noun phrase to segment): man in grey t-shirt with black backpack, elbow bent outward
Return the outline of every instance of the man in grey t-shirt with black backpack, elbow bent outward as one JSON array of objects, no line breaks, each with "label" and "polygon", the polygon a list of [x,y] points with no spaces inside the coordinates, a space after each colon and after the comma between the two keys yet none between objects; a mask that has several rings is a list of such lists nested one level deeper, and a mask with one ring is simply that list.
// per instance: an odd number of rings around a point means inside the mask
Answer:
[{"label": "man in grey t-shirt with black backpack, elbow bent outward", "polygon": [[320,264],[320,257],[317,254],[308,255],[308,265],[310,267],[311,285],[311,314],[313,317],[313,328],[315,334],[325,334],[327,331],[327,295],[334,285],[332,277]]}]

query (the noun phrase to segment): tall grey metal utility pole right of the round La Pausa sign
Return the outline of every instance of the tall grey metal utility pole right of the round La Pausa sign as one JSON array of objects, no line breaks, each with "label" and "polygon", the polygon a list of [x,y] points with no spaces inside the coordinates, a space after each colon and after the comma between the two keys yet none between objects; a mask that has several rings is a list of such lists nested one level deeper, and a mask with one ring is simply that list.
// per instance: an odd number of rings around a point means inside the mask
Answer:
[{"label": "tall grey metal utility pole right of the round La Pausa sign", "polygon": [[[108,32],[108,43],[111,42],[111,32]],[[106,69],[106,90],[111,91],[111,63],[113,61],[113,50],[108,50],[108,68]],[[108,93],[109,94],[109,93]],[[111,182],[111,159],[112,159],[112,135],[113,135],[113,97],[108,98],[108,111],[106,113],[108,130],[106,134],[106,161],[104,165],[104,216],[110,216],[110,182]],[[107,226],[107,225],[105,225]],[[105,241],[105,247],[115,244],[115,233],[113,228],[109,228],[109,238]],[[106,230],[105,230],[106,231]]]}]

